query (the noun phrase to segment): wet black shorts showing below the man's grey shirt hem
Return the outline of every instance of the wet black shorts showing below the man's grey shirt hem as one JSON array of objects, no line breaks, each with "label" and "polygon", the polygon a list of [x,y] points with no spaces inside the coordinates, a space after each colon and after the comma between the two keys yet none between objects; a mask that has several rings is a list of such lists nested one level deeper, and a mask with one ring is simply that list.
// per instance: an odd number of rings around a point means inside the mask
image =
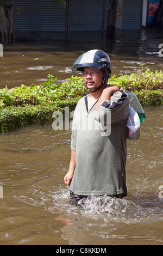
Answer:
[{"label": "wet black shorts showing below the man's grey shirt hem", "polygon": [[[70,190],[70,205],[72,206],[79,206],[79,200],[81,199],[86,199],[90,196],[79,196],[78,194],[73,193]],[[112,198],[123,198],[124,194],[109,194],[108,197],[112,197]]]}]

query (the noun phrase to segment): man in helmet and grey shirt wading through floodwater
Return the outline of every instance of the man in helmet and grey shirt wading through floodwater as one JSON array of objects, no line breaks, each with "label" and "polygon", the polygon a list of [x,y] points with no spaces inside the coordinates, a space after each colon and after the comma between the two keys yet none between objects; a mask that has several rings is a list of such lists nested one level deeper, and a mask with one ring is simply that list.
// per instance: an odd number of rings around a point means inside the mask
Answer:
[{"label": "man in helmet and grey shirt wading through floodwater", "polygon": [[[80,199],[91,195],[123,198],[127,196],[128,95],[118,86],[108,84],[111,62],[101,50],[82,54],[72,71],[83,72],[89,93],[79,100],[74,111],[70,167],[64,177],[70,190],[70,204],[78,206]],[[107,114],[111,115],[111,124],[107,124]],[[98,124],[106,129],[82,129],[89,122],[91,127]]]}]

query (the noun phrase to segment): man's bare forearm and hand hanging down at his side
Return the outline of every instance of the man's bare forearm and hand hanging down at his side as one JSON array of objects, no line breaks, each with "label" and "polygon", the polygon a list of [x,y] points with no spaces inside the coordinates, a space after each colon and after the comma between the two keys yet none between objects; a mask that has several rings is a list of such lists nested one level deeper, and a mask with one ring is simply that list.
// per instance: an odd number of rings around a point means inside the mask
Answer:
[{"label": "man's bare forearm and hand hanging down at his side", "polygon": [[76,151],[71,149],[70,166],[69,166],[67,174],[64,177],[64,181],[65,181],[65,184],[67,187],[70,187],[75,168],[76,168]]}]

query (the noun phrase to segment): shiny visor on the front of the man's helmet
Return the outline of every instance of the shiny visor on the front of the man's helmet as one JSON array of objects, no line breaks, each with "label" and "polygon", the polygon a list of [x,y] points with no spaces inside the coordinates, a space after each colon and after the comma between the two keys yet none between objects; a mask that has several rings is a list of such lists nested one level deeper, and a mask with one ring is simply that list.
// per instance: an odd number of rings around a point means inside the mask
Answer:
[{"label": "shiny visor on the front of the man's helmet", "polygon": [[86,52],[80,55],[72,65],[72,72],[75,74],[80,68],[88,66],[93,70],[99,70],[103,68],[103,64],[109,62],[107,58],[100,58],[97,54],[92,52]]}]

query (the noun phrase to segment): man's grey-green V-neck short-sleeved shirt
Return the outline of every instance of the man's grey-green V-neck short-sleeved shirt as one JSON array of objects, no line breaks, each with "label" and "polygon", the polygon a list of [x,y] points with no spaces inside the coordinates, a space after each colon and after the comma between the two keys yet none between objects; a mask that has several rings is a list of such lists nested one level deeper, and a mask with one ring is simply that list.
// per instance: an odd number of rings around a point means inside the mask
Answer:
[{"label": "man's grey-green V-neck short-sleeved shirt", "polygon": [[76,168],[69,189],[80,196],[127,196],[129,99],[118,91],[95,114],[96,103],[88,112],[86,95],[74,111],[71,149],[76,151]]}]

